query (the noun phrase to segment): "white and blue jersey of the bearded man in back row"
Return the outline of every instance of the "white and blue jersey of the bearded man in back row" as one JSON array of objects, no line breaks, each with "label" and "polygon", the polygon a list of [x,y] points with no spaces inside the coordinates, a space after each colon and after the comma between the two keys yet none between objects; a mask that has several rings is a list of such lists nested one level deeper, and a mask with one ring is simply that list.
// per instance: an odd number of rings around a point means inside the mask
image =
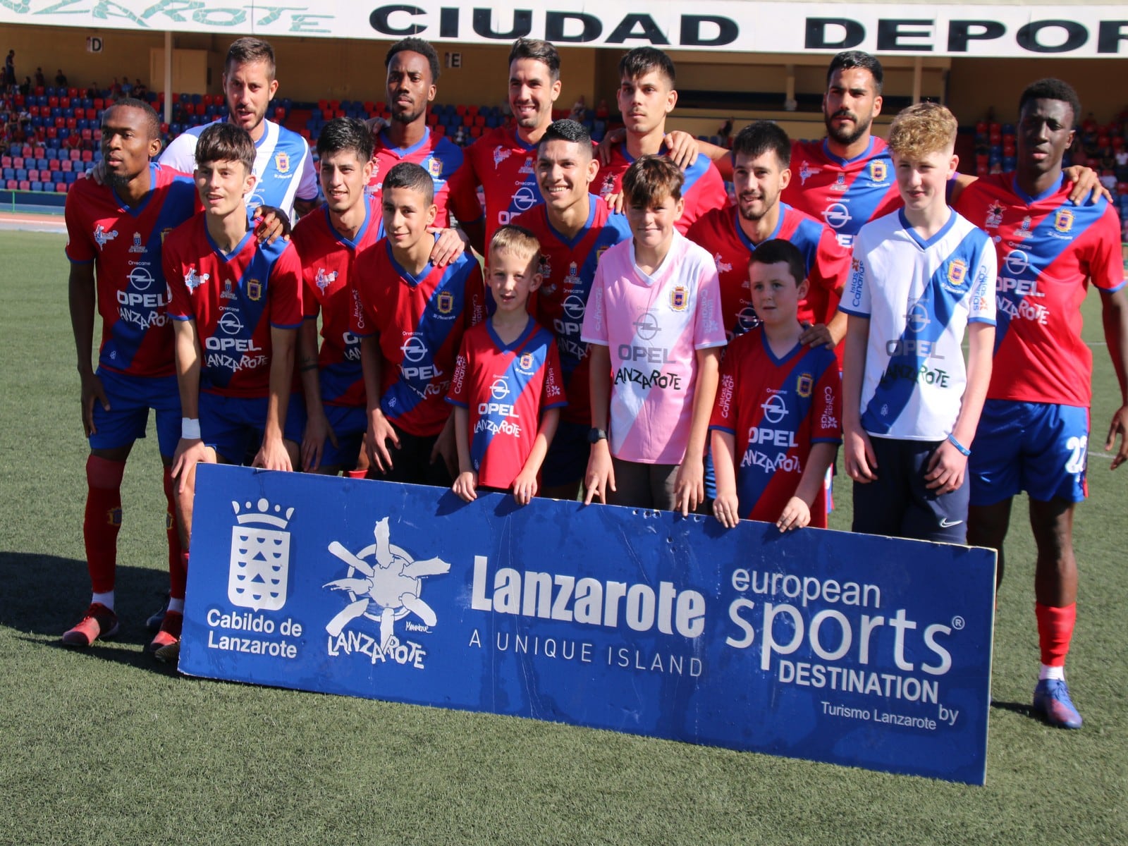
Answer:
[{"label": "white and blue jersey of the bearded man in back row", "polygon": [[[222,121],[223,118],[220,118]],[[220,123],[214,121],[213,123]],[[177,135],[160,156],[160,164],[191,174],[196,168],[196,142],[212,124],[193,126]],[[255,187],[247,194],[247,213],[259,205],[281,209],[291,221],[293,202],[317,199],[317,173],[309,144],[297,132],[263,121],[263,136],[255,143]]]}]

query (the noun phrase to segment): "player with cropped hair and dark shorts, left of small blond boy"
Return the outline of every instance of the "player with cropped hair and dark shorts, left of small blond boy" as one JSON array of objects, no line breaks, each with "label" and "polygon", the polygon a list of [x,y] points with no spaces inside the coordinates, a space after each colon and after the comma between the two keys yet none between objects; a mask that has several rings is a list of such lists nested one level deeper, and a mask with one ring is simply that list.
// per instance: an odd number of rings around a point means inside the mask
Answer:
[{"label": "player with cropped hair and dark shorts, left of small blond boy", "polygon": [[351,331],[361,340],[365,446],[389,482],[455,479],[458,455],[444,397],[462,334],[485,317],[477,262],[431,263],[434,182],[418,165],[391,168],[382,188],[385,237],[356,258]]}]

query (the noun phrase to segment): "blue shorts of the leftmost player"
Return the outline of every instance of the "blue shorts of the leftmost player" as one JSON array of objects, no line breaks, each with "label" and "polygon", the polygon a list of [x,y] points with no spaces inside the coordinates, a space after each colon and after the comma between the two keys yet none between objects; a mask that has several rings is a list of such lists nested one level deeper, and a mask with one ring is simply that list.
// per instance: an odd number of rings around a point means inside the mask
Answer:
[{"label": "blue shorts of the leftmost player", "polygon": [[109,411],[94,404],[90,449],[118,449],[144,438],[149,409],[157,413],[157,446],[160,455],[171,458],[180,440],[180,391],[175,376],[129,376],[98,368]]}]

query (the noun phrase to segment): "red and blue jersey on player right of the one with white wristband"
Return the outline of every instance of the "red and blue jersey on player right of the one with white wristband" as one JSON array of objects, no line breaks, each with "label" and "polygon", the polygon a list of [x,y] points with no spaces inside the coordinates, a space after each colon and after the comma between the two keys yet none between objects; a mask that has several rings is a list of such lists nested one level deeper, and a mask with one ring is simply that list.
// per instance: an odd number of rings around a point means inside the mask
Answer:
[{"label": "red and blue jersey on player right of the one with white wristband", "polygon": [[362,250],[382,236],[380,208],[365,201],[364,223],[356,237],[345,238],[333,228],[328,206],[316,209],[293,228],[293,246],[301,259],[302,303],[307,320],[321,316],[321,350],[317,367],[321,402],[364,407],[364,374],[360,338],[350,328],[353,308],[353,265]]}]

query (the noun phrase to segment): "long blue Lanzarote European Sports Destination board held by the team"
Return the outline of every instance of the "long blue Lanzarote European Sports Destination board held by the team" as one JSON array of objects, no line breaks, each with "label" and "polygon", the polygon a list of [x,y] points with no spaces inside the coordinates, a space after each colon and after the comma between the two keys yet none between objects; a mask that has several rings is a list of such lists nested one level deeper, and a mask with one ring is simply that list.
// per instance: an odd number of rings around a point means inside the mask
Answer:
[{"label": "long blue Lanzarote European Sports Destination board held by the team", "polygon": [[199,469],[179,669],[982,784],[995,554]]}]

